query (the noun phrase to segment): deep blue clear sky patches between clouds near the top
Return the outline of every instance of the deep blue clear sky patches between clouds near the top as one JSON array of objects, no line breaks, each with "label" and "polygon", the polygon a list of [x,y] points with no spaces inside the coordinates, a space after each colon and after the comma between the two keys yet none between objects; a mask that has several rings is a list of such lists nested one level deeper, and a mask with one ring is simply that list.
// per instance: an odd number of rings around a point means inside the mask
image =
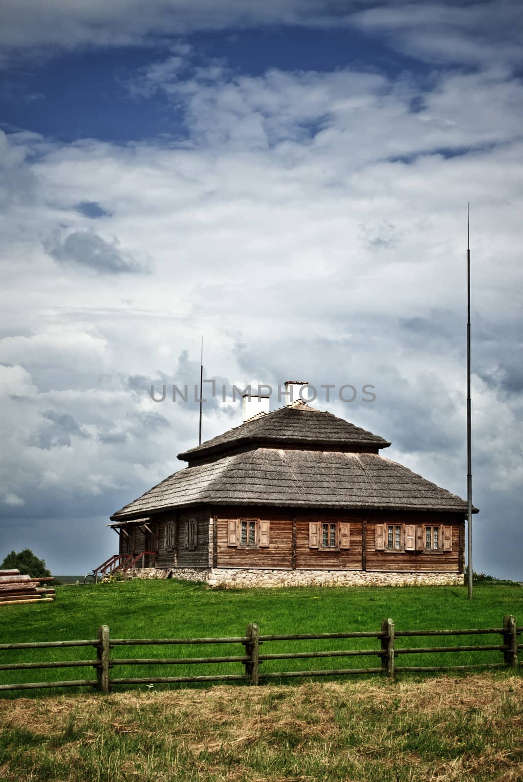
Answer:
[{"label": "deep blue clear sky patches between clouds near the top", "polygon": [[[260,76],[268,68],[332,71],[355,67],[389,75],[428,74],[417,59],[396,52],[375,34],[274,26],[232,32],[199,32],[190,41],[200,62],[220,61],[235,74]],[[171,41],[172,43],[172,41]],[[185,135],[184,113],[159,95],[130,95],[140,69],[170,54],[167,42],[147,47],[64,52],[44,63],[19,63],[0,93],[2,120],[63,142],[103,138],[131,142]]]}]

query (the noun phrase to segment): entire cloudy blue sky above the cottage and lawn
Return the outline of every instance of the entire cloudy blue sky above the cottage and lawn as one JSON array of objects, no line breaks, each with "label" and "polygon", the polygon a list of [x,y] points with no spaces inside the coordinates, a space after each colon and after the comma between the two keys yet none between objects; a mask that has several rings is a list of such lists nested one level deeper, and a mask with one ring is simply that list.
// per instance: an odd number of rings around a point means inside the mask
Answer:
[{"label": "entire cloudy blue sky above the cottage and lawn", "polygon": [[[56,572],[184,465],[151,383],[370,383],[317,406],[466,493],[523,579],[523,10],[500,2],[2,0],[0,510]],[[240,421],[208,404],[204,436]],[[507,546],[510,540],[510,546]],[[1,554],[2,552],[0,552]]]}]

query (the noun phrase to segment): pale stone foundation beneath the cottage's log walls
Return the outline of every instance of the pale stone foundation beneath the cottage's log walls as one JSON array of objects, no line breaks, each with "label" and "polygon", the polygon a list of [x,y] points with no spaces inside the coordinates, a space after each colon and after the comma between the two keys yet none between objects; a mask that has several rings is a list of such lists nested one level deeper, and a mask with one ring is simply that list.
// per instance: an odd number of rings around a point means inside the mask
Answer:
[{"label": "pale stone foundation beneath the cottage's log walls", "polygon": [[[134,578],[158,578],[162,569],[136,568]],[[259,570],[178,568],[175,579],[205,581],[210,587],[460,587],[463,573],[364,572],[361,570]]]}]

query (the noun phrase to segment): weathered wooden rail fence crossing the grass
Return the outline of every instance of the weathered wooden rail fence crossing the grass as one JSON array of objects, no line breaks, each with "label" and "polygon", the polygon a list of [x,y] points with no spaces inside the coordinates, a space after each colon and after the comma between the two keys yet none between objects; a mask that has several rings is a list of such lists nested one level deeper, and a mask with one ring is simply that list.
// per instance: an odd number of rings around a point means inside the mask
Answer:
[{"label": "weathered wooden rail fence crossing the grass", "polygon": [[[227,638],[110,638],[109,627],[99,628],[98,638],[93,640],[58,640],[42,641],[25,644],[0,644],[0,651],[15,649],[44,649],[66,647],[94,647],[96,658],[89,660],[63,660],[58,662],[18,662],[0,665],[0,671],[19,671],[26,669],[52,668],[94,668],[95,679],[68,681],[48,681],[1,684],[0,691],[29,690],[39,687],[98,687],[102,692],[118,684],[155,684],[178,682],[223,682],[244,681],[258,684],[261,680],[280,679],[288,676],[347,676],[352,673],[385,673],[394,676],[395,673],[470,670],[476,668],[511,668],[517,669],[518,651],[523,644],[518,644],[518,634],[523,633],[523,627],[516,626],[514,616],[507,615],[503,619],[503,627],[490,627],[480,630],[396,630],[392,619],[384,619],[382,629],[375,632],[355,633],[306,633],[296,635],[260,635],[259,628],[252,623],[247,626],[245,636]],[[467,646],[435,646],[435,647],[403,647],[397,640],[404,637],[446,637],[500,635],[501,644],[482,644]],[[381,642],[380,648],[374,649],[339,649],[327,651],[296,651],[276,654],[260,653],[260,647],[273,641],[318,640],[345,638],[375,638]],[[124,646],[158,646],[158,645],[188,645],[188,644],[241,644],[242,654],[223,657],[181,657],[181,658],[119,658],[111,655],[111,651]],[[445,652],[503,652],[503,662],[480,662],[474,665],[396,665],[398,655],[424,655]],[[114,654],[114,652],[113,652]],[[260,665],[266,660],[295,660],[304,658],[335,658],[335,657],[378,657],[380,664],[367,668],[345,669],[308,669],[297,671],[260,672]],[[240,662],[245,665],[245,673],[221,674],[213,676],[147,676],[140,678],[114,678],[113,670],[119,665],[203,665],[208,663]]]}]

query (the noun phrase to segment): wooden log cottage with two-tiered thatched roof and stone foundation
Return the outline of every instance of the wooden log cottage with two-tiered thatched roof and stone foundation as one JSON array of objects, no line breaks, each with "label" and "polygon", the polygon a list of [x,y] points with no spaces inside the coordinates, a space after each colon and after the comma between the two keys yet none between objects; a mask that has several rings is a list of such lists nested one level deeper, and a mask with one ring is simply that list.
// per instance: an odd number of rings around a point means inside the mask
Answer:
[{"label": "wooden log cottage with two-tiered thatched roof and stone foundation", "polygon": [[111,516],[120,561],[238,587],[463,583],[466,502],[389,445],[302,401],[256,414]]}]

